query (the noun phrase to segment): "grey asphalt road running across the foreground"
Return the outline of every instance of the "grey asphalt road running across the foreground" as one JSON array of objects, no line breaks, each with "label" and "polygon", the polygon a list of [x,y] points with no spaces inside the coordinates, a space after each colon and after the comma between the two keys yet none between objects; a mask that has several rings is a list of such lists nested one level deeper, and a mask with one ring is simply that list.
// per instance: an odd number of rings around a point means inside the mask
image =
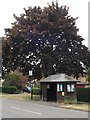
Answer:
[{"label": "grey asphalt road running across the foreground", "polygon": [[[0,99],[1,101],[1,99]],[[88,112],[42,105],[38,102],[24,102],[2,99],[3,118],[88,118]]]}]

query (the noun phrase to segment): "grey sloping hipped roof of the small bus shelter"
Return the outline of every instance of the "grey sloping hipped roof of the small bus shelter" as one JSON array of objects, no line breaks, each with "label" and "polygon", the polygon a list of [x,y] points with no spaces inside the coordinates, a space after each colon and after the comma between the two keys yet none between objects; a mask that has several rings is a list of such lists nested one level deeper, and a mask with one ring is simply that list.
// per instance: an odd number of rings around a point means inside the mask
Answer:
[{"label": "grey sloping hipped roof of the small bus shelter", "polygon": [[66,74],[54,74],[45,79],[41,79],[40,82],[80,82]]}]

